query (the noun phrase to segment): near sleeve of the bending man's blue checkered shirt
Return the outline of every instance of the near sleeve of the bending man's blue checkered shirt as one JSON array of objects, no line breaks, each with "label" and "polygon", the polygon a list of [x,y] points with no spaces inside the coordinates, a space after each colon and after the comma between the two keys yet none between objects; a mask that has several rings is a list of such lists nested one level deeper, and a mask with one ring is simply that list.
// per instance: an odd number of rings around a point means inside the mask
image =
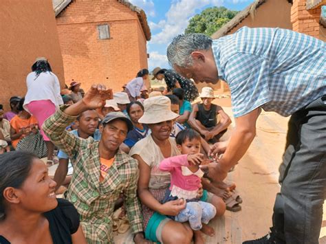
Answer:
[{"label": "near sleeve of the bending man's blue checkered shirt", "polygon": [[235,118],[246,115],[270,101],[268,60],[254,54],[237,53],[225,64]]}]

